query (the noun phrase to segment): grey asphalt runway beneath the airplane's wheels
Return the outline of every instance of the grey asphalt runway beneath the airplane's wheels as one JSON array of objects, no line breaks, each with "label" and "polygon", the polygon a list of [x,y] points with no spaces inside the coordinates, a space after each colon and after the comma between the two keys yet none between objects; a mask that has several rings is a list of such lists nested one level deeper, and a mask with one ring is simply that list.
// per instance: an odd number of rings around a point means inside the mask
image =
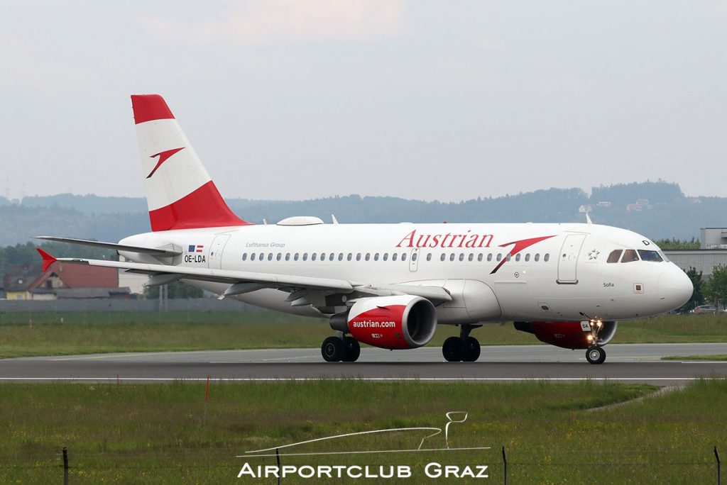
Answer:
[{"label": "grey asphalt runway beneath the airplane's wheels", "polygon": [[140,382],[169,380],[595,380],[683,385],[726,378],[727,362],[662,361],[662,356],[727,354],[727,343],[615,344],[601,365],[585,351],[552,346],[484,346],[478,362],[444,362],[441,349],[361,349],[358,362],[327,363],[318,349],[150,352],[0,360],[0,382]]}]

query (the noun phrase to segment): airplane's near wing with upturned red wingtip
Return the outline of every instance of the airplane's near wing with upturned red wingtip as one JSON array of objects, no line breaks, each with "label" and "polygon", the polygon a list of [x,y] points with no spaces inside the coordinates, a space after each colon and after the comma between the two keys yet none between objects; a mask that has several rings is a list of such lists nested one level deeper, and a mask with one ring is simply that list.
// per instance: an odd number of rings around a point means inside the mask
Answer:
[{"label": "airplane's near wing with upturned red wingtip", "polygon": [[235,271],[230,269],[190,268],[187,266],[170,266],[165,264],[132,263],[127,261],[106,261],[103,259],[54,258],[38,248],[43,256],[44,271],[55,261],[71,264],[87,264],[89,266],[105,266],[107,268],[125,269],[127,272],[148,274],[150,280],[146,285],[165,285],[176,280],[196,280],[218,282],[229,285],[220,298],[241,295],[264,288],[274,288],[290,293],[286,299],[292,306],[313,304],[316,307],[331,306],[325,301],[326,296],[345,295],[342,299],[352,301],[355,298],[387,295],[414,295],[427,298],[438,304],[451,301],[449,292],[437,286],[423,285],[377,285],[365,282],[351,282],[333,278],[297,276],[293,274],[274,274]]}]

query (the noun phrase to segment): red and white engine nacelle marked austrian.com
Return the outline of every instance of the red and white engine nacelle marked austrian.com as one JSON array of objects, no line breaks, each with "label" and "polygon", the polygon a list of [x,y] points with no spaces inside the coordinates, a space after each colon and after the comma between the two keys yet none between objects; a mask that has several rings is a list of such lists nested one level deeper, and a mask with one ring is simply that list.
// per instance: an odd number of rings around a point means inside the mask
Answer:
[{"label": "red and white engine nacelle marked austrian.com", "polygon": [[382,349],[416,349],[432,340],[437,312],[421,296],[362,298],[348,313],[331,318],[333,330],[350,333],[357,341]]}]

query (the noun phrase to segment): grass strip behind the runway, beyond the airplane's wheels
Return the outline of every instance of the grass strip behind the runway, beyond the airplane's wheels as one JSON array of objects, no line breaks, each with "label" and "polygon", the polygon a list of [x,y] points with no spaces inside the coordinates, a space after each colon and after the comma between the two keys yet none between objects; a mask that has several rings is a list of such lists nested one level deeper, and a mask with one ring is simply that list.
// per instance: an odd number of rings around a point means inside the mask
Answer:
[{"label": "grass strip behind the runway, beyond the airplane's wheels", "polygon": [[[442,325],[441,346],[457,327]],[[126,351],[188,351],[318,347],[332,334],[324,319],[271,311],[188,313],[4,313],[0,357]],[[539,343],[512,323],[487,324],[473,335],[483,345]],[[664,315],[619,322],[613,343],[726,342],[727,315]]]}]

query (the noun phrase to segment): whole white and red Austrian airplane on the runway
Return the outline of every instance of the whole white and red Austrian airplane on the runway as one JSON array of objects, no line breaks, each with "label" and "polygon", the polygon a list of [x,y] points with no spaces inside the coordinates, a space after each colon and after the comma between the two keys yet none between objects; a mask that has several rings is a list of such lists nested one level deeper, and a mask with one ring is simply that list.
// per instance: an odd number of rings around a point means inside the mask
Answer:
[{"label": "whole white and red Austrian airplane on the runway", "polygon": [[326,362],[354,362],[361,343],[415,349],[438,325],[459,326],[443,358],[474,362],[470,333],[486,322],[565,349],[590,364],[619,319],[661,314],[691,298],[691,280],[654,241],[593,224],[324,224],[292,216],[277,224],[240,219],[158,94],[132,95],[151,232],[119,243],[40,239],[117,250],[122,261],[54,261],[177,280],[266,309],[329,319]]}]

